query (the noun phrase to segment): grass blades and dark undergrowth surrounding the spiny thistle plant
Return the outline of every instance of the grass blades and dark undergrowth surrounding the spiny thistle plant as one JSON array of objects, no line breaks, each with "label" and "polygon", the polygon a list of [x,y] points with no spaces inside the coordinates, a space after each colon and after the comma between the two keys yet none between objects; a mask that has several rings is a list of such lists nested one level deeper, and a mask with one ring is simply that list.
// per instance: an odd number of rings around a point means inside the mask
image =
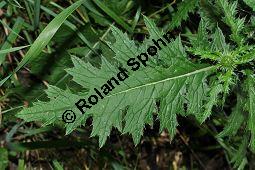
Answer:
[{"label": "grass blades and dark undergrowth surrounding the spiny thistle plant", "polygon": [[[172,141],[167,131],[159,133],[159,120],[155,118],[153,127],[145,127],[137,146],[130,136],[113,130],[106,144],[99,148],[98,139],[89,137],[91,119],[70,135],[65,135],[58,123],[42,126],[41,122],[26,123],[18,119],[15,115],[22,107],[47,100],[44,90],[49,84],[79,91],[65,71],[72,67],[71,56],[94,66],[100,65],[101,54],[114,56],[106,43],[114,41],[110,31],[113,25],[140,44],[148,36],[144,15],[165,32],[171,30],[173,37],[180,35],[182,43],[188,46],[190,35],[198,32],[201,13],[226,35],[231,34],[231,24],[238,23],[229,20],[230,25],[226,24],[222,17],[227,10],[217,8],[214,0],[84,0],[77,10],[72,9],[75,2],[0,2],[0,170],[254,169],[254,154],[245,140],[247,134],[241,133],[246,131],[244,127],[231,138],[217,137],[236,103],[232,93],[224,108],[215,108],[203,124],[192,117],[178,117],[181,126]],[[67,8],[62,16],[58,15]],[[240,0],[235,13],[245,18],[248,25],[244,29],[245,38],[252,45],[254,9],[252,0]],[[230,9],[230,19],[232,12]],[[55,22],[51,22],[53,18]],[[52,32],[56,32],[53,37]],[[245,67],[254,68],[253,63]]]}]

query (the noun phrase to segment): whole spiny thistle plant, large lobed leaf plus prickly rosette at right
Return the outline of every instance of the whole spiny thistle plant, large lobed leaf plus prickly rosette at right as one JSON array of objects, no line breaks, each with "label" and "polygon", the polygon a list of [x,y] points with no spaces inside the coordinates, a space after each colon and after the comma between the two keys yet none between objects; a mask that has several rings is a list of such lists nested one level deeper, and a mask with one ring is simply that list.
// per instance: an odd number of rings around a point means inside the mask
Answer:
[{"label": "whole spiny thistle plant, large lobed leaf plus prickly rosette at right", "polygon": [[[180,4],[180,9],[185,10],[183,13],[178,10],[176,15],[181,16],[179,19],[187,17],[190,6],[196,6],[195,1],[189,3],[184,1]],[[130,58],[146,51],[147,43],[152,39],[163,36],[162,31],[146,17],[145,24],[150,37],[139,47],[127,34],[112,27],[115,42],[108,45],[115,53],[114,61],[102,57],[102,64],[98,68],[72,57],[74,67],[67,72],[76,83],[88,90],[87,92],[73,93],[70,90],[50,86],[46,91],[49,102],[38,101],[33,107],[23,109],[18,117],[26,121],[42,121],[49,125],[61,121],[61,114],[67,109],[72,109],[78,119],[66,125],[68,134],[83,125],[87,118],[92,117],[91,136],[99,137],[100,146],[103,146],[113,127],[121,133],[131,134],[135,144],[138,144],[145,124],[153,123],[153,113],[158,115],[160,129],[167,129],[173,137],[178,126],[177,115],[194,115],[202,123],[212,115],[215,106],[224,105],[228,95],[244,83],[246,90],[236,91],[236,106],[218,137],[235,135],[244,120],[248,119],[246,126],[251,134],[250,147],[254,150],[254,75],[252,69],[238,70],[240,66],[253,62],[254,46],[247,45],[245,36],[242,35],[245,23],[244,19],[236,17],[237,2],[218,0],[215,3],[218,10],[224,14],[222,21],[231,30],[230,39],[226,38],[219,26],[208,27],[210,21],[202,18],[197,34],[190,37],[191,46],[187,47],[187,50],[180,37],[172,40],[168,46],[159,51],[157,57],[150,59],[149,66],[142,67],[136,72],[129,72],[129,78],[125,83],[116,87],[110,95],[81,115],[74,105],[75,102],[90,96],[94,88],[100,88],[101,84],[116,75],[119,65],[125,66]],[[173,26],[180,24],[179,19],[174,21],[176,24]],[[200,60],[192,62],[187,52],[199,56]],[[203,61],[209,61],[213,66],[199,64]],[[244,82],[240,80],[240,74],[246,76],[247,80]],[[246,94],[247,97],[243,97]],[[157,106],[156,102],[160,105]],[[246,111],[248,117],[243,114]]]}]

